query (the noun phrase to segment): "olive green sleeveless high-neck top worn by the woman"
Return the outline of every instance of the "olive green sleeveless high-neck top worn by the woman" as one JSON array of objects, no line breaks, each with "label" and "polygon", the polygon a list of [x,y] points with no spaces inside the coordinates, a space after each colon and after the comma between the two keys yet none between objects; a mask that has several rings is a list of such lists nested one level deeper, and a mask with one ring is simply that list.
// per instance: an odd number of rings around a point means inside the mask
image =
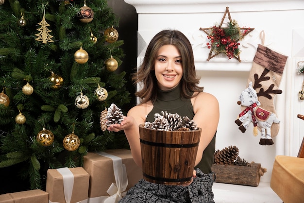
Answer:
[{"label": "olive green sleeveless high-neck top worn by the woman", "polygon": [[[155,120],[154,114],[161,114],[162,111],[168,113],[177,113],[181,117],[187,116],[193,119],[194,112],[190,99],[181,98],[181,85],[178,85],[174,89],[163,91],[157,89],[157,99],[153,103],[152,111],[147,115],[146,121],[153,122]],[[201,134],[203,136],[203,132]],[[203,158],[201,162],[196,166],[203,171],[203,173],[211,173],[211,166],[213,164],[214,152],[215,152],[215,136],[203,152]]]}]

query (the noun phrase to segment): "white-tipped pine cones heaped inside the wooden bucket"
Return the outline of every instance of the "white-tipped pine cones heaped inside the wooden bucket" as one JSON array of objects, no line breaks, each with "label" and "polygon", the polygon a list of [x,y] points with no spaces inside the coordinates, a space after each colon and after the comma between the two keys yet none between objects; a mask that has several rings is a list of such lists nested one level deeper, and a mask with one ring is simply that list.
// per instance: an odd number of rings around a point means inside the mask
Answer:
[{"label": "white-tipped pine cones heaped inside the wooden bucket", "polygon": [[196,123],[188,117],[181,118],[178,114],[162,111],[161,114],[154,114],[155,120],[145,122],[145,128],[159,131],[193,131],[198,130]]}]

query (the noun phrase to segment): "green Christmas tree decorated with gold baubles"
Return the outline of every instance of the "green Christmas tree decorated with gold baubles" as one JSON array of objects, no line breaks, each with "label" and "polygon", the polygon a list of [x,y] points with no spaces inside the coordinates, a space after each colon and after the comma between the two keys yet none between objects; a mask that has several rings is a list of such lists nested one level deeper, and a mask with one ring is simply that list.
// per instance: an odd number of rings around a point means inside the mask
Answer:
[{"label": "green Christmas tree decorated with gold baubles", "polygon": [[31,189],[43,189],[47,169],[126,147],[100,124],[112,103],[130,101],[107,0],[0,3],[0,168],[18,165]]}]

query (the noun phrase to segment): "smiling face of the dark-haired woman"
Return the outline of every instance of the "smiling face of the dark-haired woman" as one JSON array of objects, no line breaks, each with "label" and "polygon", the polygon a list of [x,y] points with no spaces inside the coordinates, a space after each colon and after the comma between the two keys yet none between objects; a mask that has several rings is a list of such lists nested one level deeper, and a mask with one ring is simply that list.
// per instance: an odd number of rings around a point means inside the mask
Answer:
[{"label": "smiling face of the dark-haired woman", "polygon": [[158,87],[169,90],[176,87],[183,77],[182,57],[173,45],[164,45],[157,51],[154,65]]}]

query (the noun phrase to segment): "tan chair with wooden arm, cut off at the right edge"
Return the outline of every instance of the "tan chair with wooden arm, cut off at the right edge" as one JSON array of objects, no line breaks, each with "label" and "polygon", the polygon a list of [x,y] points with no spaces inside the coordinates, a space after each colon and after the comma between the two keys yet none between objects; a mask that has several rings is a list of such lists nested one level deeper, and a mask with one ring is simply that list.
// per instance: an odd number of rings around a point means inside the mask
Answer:
[{"label": "tan chair with wooden arm, cut off at the right edge", "polygon": [[304,203],[304,138],[297,157],[275,157],[270,187],[283,203]]}]

